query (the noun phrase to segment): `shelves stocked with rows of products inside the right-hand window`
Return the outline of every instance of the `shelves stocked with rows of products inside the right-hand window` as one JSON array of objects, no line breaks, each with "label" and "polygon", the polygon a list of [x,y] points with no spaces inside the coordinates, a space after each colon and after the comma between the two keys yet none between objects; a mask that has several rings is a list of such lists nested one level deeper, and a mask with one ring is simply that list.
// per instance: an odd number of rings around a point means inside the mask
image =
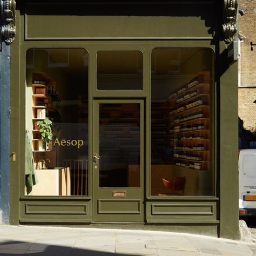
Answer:
[{"label": "shelves stocked with rows of products inside the right-hand window", "polygon": [[174,164],[195,170],[210,169],[209,72],[199,72],[171,93],[170,140]]}]

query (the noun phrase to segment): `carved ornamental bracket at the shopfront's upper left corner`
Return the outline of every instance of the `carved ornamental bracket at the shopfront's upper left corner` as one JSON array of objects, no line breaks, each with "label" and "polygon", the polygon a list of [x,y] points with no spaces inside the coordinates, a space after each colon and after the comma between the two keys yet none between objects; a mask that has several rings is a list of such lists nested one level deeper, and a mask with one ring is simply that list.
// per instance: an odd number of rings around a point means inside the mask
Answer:
[{"label": "carved ornamental bracket at the shopfront's upper left corner", "polygon": [[0,0],[1,8],[1,36],[3,41],[10,45],[16,34],[15,0]]}]

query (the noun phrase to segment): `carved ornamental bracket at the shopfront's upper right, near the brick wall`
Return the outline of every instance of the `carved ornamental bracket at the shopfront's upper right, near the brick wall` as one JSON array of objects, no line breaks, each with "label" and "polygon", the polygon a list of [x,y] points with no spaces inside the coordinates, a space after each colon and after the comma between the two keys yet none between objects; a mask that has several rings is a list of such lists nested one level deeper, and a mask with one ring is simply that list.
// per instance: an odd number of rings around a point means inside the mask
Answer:
[{"label": "carved ornamental bracket at the shopfront's upper right, near the brick wall", "polygon": [[233,42],[234,34],[237,32],[237,8],[238,0],[223,0],[222,31],[226,43]]}]

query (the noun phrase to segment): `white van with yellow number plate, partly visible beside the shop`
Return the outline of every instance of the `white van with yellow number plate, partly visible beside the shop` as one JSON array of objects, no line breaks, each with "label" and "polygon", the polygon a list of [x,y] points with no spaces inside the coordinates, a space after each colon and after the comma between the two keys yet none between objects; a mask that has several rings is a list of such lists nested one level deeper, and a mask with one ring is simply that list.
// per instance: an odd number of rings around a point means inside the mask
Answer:
[{"label": "white van with yellow number plate, partly visible beside the shop", "polygon": [[256,149],[240,150],[239,215],[256,215]]}]

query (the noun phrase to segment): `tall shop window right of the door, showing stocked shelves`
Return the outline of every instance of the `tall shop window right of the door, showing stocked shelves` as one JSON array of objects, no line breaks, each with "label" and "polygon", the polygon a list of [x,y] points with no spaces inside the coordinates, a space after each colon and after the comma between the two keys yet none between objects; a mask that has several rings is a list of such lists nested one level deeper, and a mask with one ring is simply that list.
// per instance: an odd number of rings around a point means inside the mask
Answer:
[{"label": "tall shop window right of the door, showing stocked shelves", "polygon": [[214,196],[214,53],[151,53],[151,196]]}]

